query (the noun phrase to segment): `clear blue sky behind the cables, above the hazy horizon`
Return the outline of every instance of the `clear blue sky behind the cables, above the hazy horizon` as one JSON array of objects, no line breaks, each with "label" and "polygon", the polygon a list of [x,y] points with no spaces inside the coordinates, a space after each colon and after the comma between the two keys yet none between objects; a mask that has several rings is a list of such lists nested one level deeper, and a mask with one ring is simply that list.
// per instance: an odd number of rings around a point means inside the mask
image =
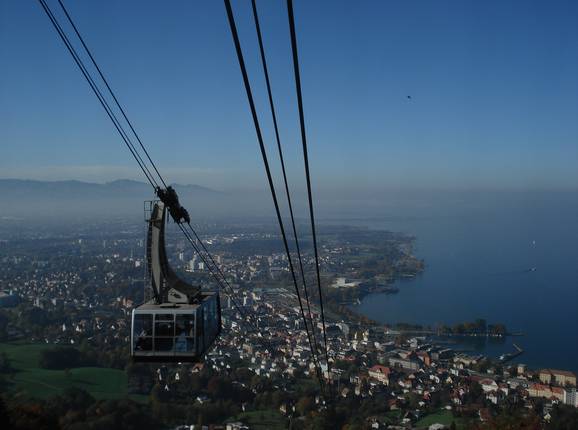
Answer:
[{"label": "clear blue sky behind the cables, above the hazy horizon", "polygon": [[[221,1],[65,3],[169,181],[266,187]],[[233,7],[278,172],[250,2]],[[285,2],[258,7],[300,187]],[[577,2],[294,8],[317,188],[578,187]],[[0,70],[0,177],[142,179],[37,2],[0,2]]]}]

